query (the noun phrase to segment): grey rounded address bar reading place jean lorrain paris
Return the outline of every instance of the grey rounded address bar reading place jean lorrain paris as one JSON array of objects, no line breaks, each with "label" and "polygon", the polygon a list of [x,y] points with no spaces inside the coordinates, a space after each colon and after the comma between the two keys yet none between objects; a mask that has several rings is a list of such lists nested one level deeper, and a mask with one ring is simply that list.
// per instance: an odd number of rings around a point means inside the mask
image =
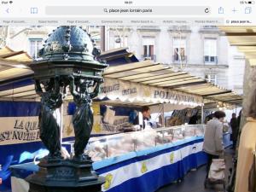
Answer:
[{"label": "grey rounded address bar reading place jean lorrain paris", "polygon": [[46,6],[46,15],[209,15],[209,6]]}]

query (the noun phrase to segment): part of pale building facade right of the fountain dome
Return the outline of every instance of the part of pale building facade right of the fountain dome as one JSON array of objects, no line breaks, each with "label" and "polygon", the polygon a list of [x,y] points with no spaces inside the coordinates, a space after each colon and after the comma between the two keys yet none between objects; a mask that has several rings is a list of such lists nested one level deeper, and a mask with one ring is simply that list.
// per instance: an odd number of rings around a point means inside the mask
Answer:
[{"label": "part of pale building facade right of the fountain dome", "polygon": [[244,55],[216,26],[107,27],[106,49],[128,47],[139,60],[161,62],[242,94]]}]

